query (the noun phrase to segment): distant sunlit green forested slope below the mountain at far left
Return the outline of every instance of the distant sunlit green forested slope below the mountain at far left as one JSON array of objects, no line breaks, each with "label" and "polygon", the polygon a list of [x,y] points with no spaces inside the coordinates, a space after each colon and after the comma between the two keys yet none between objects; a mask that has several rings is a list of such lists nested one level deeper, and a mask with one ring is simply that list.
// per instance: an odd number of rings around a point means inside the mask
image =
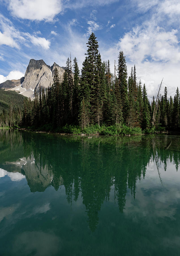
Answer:
[{"label": "distant sunlit green forested slope below the mountain at far left", "polygon": [[0,127],[19,127],[22,121],[25,96],[0,90]]}]

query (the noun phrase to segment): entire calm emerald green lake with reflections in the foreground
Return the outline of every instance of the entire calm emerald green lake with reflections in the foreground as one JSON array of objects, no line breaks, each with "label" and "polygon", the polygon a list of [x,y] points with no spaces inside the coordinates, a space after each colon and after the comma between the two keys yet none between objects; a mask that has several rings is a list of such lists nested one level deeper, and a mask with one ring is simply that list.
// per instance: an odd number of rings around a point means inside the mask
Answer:
[{"label": "entire calm emerald green lake with reflections in the foreground", "polygon": [[0,130],[0,255],[180,255],[180,136]]}]

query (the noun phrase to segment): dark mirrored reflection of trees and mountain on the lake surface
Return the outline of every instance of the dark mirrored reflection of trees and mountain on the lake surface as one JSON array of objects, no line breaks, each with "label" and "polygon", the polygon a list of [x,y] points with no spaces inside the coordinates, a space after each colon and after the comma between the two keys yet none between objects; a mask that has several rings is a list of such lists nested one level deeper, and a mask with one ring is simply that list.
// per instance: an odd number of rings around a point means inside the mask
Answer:
[{"label": "dark mirrored reflection of trees and mountain on the lake surface", "polygon": [[123,212],[127,190],[135,198],[136,182],[145,178],[150,162],[156,162],[159,177],[159,164],[166,171],[167,162],[173,162],[178,169],[179,142],[179,136],[167,134],[88,139],[0,130],[0,168],[25,175],[31,192],[64,185],[69,204],[81,196],[94,231],[112,189]]}]

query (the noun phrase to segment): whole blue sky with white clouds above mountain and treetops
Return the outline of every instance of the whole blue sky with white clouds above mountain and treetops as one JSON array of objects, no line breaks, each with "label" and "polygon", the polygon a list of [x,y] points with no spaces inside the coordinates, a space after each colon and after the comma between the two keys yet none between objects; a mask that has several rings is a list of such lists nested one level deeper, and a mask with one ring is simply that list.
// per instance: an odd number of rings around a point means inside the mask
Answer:
[{"label": "whole blue sky with white clouds above mountain and treetops", "polygon": [[180,89],[179,0],[0,0],[0,83],[24,76],[30,59],[82,68],[94,32],[102,61],[126,56],[149,98],[163,78],[168,96]]}]

